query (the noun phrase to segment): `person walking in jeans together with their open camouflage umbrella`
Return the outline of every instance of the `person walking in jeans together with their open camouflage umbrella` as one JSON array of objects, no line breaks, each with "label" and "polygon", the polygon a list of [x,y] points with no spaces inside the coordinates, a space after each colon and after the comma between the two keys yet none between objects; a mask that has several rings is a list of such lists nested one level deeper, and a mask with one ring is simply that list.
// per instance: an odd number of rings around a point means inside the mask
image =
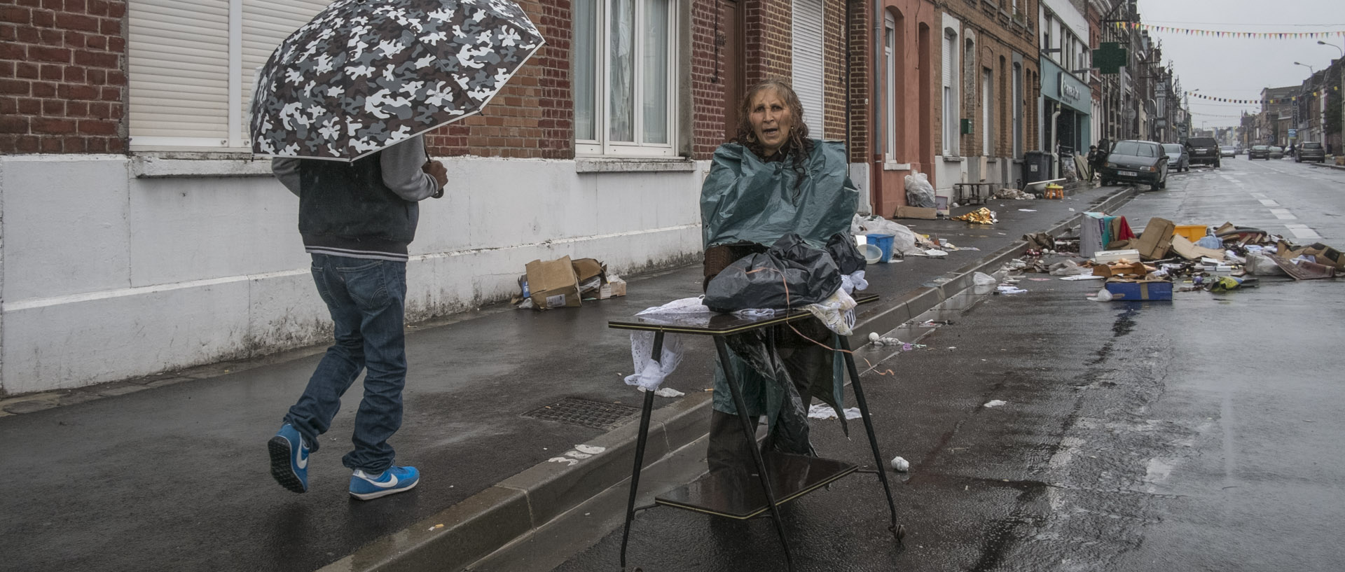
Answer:
[{"label": "person walking in jeans together with their open camouflage umbrella", "polygon": [[[299,196],[299,232],[335,344],[268,442],[272,477],[308,490],[308,455],[362,371],[350,494],[410,490],[387,439],[402,420],[404,303],[417,203],[448,176],[424,133],[480,113],[543,40],[508,0],[335,0],[258,70],[249,134]],[[475,70],[475,71],[472,71]]]}]

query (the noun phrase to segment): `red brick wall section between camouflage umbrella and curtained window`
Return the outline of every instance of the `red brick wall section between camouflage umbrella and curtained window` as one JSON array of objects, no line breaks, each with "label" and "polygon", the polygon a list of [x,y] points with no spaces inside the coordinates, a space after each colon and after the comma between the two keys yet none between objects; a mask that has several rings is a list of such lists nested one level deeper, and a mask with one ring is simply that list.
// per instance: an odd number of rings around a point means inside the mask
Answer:
[{"label": "red brick wall section between camouflage umbrella and curtained window", "polygon": [[436,156],[574,157],[569,0],[521,1],[546,44],[477,114],[426,137]]}]

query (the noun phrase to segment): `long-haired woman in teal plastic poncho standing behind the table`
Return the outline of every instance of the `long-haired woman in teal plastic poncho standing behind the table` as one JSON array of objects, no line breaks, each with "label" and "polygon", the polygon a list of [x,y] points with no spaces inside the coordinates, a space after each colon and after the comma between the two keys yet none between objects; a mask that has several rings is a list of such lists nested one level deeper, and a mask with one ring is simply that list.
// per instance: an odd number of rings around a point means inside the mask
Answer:
[{"label": "long-haired woman in teal plastic poncho standing behind the table", "polygon": [[[788,83],[765,81],[742,101],[737,137],[714,152],[701,191],[705,285],[734,260],[764,252],[787,234],[822,247],[849,232],[858,189],[847,177],[845,146],[808,138],[803,105]],[[733,356],[716,368],[710,418],[712,471],[751,466],[751,443],[736,419],[725,368],[744,389],[748,415],[767,415],[765,447],[812,454],[807,404],[818,397],[841,411],[842,361],[822,322],[807,320],[733,336]],[[842,420],[843,423],[843,420]]]}]

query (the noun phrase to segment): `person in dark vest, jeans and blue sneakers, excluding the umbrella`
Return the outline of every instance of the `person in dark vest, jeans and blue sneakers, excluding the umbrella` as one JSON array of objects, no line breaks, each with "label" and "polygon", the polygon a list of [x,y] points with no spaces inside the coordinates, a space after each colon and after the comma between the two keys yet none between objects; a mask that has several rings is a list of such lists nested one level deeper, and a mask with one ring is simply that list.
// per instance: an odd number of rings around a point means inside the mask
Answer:
[{"label": "person in dark vest, jeans and blue sneakers, excluding the umbrella", "polygon": [[276,177],[299,196],[299,234],[335,330],[335,344],[268,443],[272,477],[295,493],[308,490],[308,455],[317,452],[319,435],[360,371],[367,373],[355,447],[342,458],[352,470],[350,494],[367,501],[420,482],[416,467],[394,465],[387,439],[401,428],[406,384],[406,246],[416,236],[417,201],[443,196],[448,183],[444,165],[426,157],[417,136],[354,162],[272,161]]}]

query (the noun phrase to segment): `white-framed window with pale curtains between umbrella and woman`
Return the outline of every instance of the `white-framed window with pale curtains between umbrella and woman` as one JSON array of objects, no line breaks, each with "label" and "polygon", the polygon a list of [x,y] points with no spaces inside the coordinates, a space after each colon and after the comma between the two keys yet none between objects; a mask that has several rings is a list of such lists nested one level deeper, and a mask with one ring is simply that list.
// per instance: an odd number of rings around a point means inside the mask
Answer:
[{"label": "white-framed window with pale curtains between umbrella and woman", "polygon": [[677,13],[671,0],[576,0],[574,150],[677,154]]}]

